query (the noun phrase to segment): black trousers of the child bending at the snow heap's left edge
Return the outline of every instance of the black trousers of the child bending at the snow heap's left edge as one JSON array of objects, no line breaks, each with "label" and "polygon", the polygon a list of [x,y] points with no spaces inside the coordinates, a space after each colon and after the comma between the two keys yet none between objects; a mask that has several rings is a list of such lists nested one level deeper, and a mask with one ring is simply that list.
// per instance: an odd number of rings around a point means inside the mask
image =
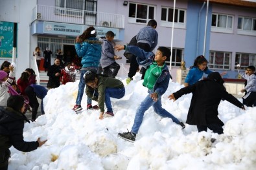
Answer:
[{"label": "black trousers of the child bending at the snow heap's left edge", "polygon": [[36,98],[36,93],[34,92],[33,87],[28,86],[25,89],[25,93],[27,94],[29,98],[29,105],[32,107],[32,120],[36,120],[36,114],[38,114],[38,98]]}]

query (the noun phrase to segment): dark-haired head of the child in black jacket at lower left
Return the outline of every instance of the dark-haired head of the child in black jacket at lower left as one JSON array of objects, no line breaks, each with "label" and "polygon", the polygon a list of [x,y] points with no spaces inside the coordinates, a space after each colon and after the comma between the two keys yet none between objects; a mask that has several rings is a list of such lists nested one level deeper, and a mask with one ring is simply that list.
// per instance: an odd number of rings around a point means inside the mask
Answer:
[{"label": "dark-haired head of the child in black jacket at lower left", "polygon": [[23,96],[20,95],[14,95],[14,96],[10,96],[7,100],[7,107],[10,107],[12,109],[14,109],[14,111],[21,111],[21,108],[24,105],[24,98]]}]

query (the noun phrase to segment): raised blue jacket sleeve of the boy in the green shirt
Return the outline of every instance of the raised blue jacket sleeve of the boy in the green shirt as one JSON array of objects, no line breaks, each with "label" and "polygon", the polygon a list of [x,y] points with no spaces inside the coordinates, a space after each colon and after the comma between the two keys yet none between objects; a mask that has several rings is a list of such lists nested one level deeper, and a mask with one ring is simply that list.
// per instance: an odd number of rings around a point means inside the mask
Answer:
[{"label": "raised blue jacket sleeve of the boy in the green shirt", "polygon": [[145,52],[145,50],[133,45],[126,46],[125,50],[136,56],[139,65],[147,67],[154,61],[155,54],[153,52]]}]

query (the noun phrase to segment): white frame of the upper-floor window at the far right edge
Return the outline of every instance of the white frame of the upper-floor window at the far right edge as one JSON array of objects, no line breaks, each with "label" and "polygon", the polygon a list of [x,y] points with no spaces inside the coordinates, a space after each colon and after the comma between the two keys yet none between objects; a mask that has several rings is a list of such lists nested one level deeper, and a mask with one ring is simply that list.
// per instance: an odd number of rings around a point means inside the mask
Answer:
[{"label": "white frame of the upper-floor window at the far right edge", "polygon": [[[242,19],[242,21],[240,21],[240,19]],[[244,29],[244,19],[251,19],[251,30]],[[255,27],[254,28],[255,30],[253,30],[253,27]],[[256,18],[255,17],[239,16],[238,20],[237,20],[237,34],[242,34],[242,35],[247,35],[247,36],[256,36]]]}]

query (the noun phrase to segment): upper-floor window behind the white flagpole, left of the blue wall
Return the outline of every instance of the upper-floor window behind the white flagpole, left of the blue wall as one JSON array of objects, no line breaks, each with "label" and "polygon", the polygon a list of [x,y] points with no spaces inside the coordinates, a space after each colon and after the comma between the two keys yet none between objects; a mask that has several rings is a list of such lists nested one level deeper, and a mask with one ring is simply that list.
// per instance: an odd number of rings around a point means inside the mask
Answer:
[{"label": "upper-floor window behind the white flagpole, left of the blue wall", "polygon": [[[174,25],[176,28],[185,28],[185,10],[175,9]],[[173,8],[162,7],[161,8],[161,23],[163,27],[172,27],[173,20]]]}]

